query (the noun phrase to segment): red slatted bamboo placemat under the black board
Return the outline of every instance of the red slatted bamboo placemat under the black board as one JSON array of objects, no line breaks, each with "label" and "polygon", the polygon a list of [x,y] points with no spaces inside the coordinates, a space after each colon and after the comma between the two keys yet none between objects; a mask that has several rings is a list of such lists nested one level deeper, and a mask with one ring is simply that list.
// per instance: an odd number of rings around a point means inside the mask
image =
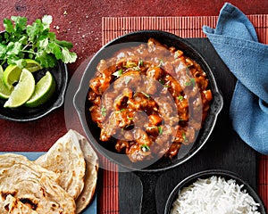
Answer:
[{"label": "red slatted bamboo placemat under the black board", "polygon": [[[254,24],[259,41],[268,44],[268,14],[248,15]],[[217,16],[194,17],[103,17],[102,43],[105,45],[113,38],[142,29],[160,29],[180,37],[205,37],[203,25],[215,28]],[[116,170],[112,163],[111,167]],[[259,161],[258,191],[268,208],[268,156],[262,155]],[[104,190],[100,193],[99,213],[118,214],[118,173],[105,171],[103,174]]]}]

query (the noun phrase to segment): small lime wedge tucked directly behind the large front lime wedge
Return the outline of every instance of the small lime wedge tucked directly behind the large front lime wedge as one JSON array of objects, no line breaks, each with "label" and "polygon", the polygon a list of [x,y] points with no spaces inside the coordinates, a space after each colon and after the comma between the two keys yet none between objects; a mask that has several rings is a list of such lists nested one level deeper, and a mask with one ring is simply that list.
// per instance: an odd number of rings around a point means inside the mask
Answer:
[{"label": "small lime wedge tucked directly behind the large front lime wedge", "polygon": [[21,76],[21,68],[17,65],[11,64],[4,70],[3,81],[4,85],[9,90],[13,88],[13,83],[18,82]]}]

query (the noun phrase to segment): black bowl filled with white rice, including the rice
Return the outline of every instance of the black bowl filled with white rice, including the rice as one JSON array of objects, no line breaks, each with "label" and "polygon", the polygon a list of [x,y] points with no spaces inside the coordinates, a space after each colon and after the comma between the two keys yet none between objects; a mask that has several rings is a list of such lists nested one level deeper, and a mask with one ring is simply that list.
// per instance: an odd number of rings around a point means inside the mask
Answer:
[{"label": "black bowl filled with white rice, including the rice", "polygon": [[165,214],[265,214],[255,190],[228,170],[197,172],[175,186]]}]

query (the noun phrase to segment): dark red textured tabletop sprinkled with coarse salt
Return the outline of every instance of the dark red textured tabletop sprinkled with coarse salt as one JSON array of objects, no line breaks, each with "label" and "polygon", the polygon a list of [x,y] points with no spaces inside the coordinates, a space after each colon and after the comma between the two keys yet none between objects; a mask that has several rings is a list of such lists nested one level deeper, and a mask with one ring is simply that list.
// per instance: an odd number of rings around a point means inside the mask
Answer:
[{"label": "dark red textured tabletop sprinkled with coarse salt", "polygon": [[[229,1],[246,14],[265,14],[268,1]],[[0,22],[12,15],[26,16],[29,22],[45,14],[53,16],[57,38],[73,43],[78,60],[68,65],[70,77],[102,46],[102,18],[125,16],[217,16],[222,0],[2,0]],[[0,25],[0,30],[4,26]],[[78,122],[78,121],[75,121]],[[64,107],[43,119],[19,123],[0,120],[0,151],[47,151],[67,131]],[[111,196],[113,197],[113,196]],[[116,197],[116,196],[114,196]],[[110,213],[108,208],[105,213]]]}]

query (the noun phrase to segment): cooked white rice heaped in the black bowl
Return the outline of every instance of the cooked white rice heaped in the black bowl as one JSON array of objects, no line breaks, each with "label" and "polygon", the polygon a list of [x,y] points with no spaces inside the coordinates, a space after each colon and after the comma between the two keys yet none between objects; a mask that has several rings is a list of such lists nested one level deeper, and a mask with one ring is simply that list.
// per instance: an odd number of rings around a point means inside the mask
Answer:
[{"label": "cooked white rice heaped in the black bowl", "polygon": [[173,202],[171,214],[258,214],[259,204],[235,180],[197,179],[184,187]]}]

